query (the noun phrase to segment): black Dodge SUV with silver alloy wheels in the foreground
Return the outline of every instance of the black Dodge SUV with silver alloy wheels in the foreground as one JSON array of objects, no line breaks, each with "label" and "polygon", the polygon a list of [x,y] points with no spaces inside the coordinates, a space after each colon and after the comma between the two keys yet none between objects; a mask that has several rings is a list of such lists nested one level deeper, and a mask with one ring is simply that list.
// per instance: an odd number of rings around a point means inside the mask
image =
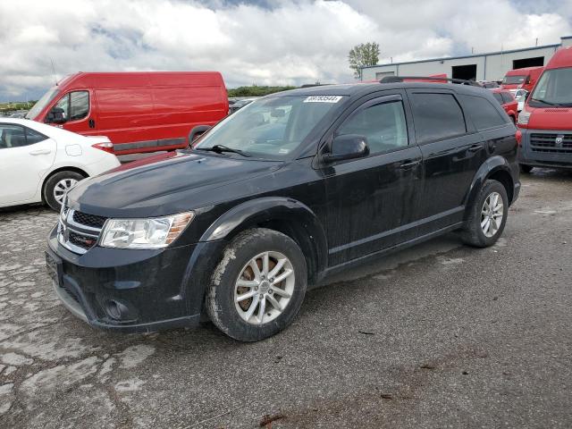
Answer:
[{"label": "black Dodge SUV with silver alloy wheels in the foreground", "polygon": [[349,265],[447,231],[491,246],[520,188],[515,133],[491,92],[467,85],[264,97],[189,149],[71,189],[48,272],[99,328],[207,315],[234,339],[261,340],[290,324],[307,285]]}]

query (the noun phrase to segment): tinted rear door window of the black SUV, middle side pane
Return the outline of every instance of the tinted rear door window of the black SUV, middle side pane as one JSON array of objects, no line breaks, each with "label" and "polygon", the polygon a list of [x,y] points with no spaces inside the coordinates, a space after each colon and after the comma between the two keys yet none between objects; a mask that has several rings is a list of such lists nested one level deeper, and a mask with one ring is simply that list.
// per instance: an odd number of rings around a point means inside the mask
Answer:
[{"label": "tinted rear door window of the black SUV, middle side pane", "polygon": [[412,94],[411,103],[418,143],[467,132],[463,111],[451,94]]}]

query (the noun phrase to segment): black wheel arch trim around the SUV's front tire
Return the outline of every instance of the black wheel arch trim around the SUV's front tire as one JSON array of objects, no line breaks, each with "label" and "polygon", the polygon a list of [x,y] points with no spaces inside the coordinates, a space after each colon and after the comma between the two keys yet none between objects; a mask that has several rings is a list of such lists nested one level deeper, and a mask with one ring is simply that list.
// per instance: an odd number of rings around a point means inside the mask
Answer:
[{"label": "black wheel arch trim around the SUV's front tire", "polygon": [[310,233],[301,223],[288,221],[286,219],[270,219],[261,222],[246,223],[231,231],[231,233],[226,236],[226,240],[230,241],[240,232],[250,228],[267,228],[269,230],[282,232],[282,234],[296,241],[296,244],[299,245],[306,259],[308,282],[315,282],[320,269],[318,266],[318,250],[315,248]]}]

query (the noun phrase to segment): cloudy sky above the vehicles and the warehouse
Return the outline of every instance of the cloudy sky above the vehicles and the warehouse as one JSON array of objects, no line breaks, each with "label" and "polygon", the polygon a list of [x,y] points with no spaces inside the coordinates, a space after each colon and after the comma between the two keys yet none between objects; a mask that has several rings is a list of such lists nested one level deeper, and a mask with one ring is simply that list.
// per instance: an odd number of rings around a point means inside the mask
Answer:
[{"label": "cloudy sky above the vehicles and the warehouse", "polygon": [[222,71],[240,85],[351,81],[380,63],[559,43],[572,0],[1,0],[0,101],[37,98],[75,71]]}]

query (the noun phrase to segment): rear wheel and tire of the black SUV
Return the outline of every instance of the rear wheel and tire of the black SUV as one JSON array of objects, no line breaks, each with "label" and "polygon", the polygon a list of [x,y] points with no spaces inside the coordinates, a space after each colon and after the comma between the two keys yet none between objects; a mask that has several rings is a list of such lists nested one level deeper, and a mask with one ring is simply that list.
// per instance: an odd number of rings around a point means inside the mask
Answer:
[{"label": "rear wheel and tire of the black SUV", "polygon": [[461,240],[475,248],[492,246],[501,237],[509,214],[507,189],[500,181],[485,181],[472,206]]}]

